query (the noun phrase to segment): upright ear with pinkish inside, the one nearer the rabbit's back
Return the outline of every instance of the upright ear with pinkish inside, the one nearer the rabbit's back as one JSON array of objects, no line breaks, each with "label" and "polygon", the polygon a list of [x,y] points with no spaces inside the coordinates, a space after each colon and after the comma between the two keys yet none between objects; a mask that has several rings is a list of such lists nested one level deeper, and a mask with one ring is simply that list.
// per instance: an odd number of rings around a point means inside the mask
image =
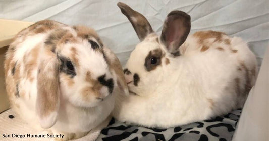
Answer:
[{"label": "upright ear with pinkish inside, the one nearer the rabbit's back", "polygon": [[172,11],[167,15],[160,40],[171,54],[179,55],[178,48],[191,29],[190,20],[190,15],[183,11]]}]

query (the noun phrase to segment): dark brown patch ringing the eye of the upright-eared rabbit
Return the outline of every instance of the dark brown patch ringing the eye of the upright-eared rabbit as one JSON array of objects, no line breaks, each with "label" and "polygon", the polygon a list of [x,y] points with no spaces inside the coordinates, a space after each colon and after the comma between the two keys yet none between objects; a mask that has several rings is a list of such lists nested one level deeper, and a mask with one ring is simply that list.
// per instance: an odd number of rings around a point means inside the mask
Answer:
[{"label": "dark brown patch ringing the eye of the upright-eared rabbit", "polygon": [[[151,71],[156,69],[157,66],[162,64],[162,58],[164,57],[164,53],[161,49],[155,49],[153,51],[150,51],[147,55],[147,57],[145,58],[145,63],[144,66],[146,67],[147,71]],[[155,57],[157,58],[157,62],[155,64],[151,64],[151,59]]]}]

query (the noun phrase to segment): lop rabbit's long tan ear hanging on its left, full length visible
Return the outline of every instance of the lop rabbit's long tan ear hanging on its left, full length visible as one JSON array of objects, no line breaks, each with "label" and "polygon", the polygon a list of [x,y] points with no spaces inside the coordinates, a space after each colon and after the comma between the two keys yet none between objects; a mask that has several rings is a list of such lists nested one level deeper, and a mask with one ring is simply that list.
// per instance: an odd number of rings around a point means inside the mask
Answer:
[{"label": "lop rabbit's long tan ear hanging on its left, full length visible", "polygon": [[48,48],[40,55],[37,74],[36,113],[42,128],[50,128],[56,123],[60,105],[59,60]]}]

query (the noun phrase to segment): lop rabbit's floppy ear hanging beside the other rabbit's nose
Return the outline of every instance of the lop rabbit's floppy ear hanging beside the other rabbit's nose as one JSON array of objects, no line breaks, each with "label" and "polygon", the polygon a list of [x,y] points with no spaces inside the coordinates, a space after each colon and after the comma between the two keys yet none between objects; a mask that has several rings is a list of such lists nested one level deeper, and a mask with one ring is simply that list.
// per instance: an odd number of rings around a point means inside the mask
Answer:
[{"label": "lop rabbit's floppy ear hanging beside the other rabbit's nose", "polygon": [[121,93],[125,93],[125,95],[129,95],[129,90],[128,90],[127,83],[125,81],[121,62],[109,48],[104,47],[103,53],[104,53],[105,60],[109,64],[109,68],[116,73],[117,84],[119,86],[119,89],[121,90]]}]

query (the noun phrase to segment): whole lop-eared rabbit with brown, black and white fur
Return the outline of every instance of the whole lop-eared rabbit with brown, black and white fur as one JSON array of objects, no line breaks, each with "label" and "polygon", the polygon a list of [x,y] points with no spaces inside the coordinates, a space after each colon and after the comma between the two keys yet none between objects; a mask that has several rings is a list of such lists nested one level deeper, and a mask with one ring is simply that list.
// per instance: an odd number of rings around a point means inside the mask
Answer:
[{"label": "whole lop-eared rabbit with brown, black and white fur", "polygon": [[64,140],[86,135],[110,115],[114,93],[128,93],[118,58],[93,29],[50,20],[16,35],[5,77],[12,109]]}]

